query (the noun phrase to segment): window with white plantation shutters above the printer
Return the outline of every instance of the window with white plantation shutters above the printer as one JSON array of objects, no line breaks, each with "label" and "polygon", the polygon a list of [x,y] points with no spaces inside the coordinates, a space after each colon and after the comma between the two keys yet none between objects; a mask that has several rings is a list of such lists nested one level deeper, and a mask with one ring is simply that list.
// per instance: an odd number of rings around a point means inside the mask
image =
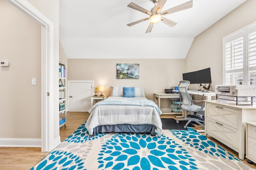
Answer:
[{"label": "window with white plantation shutters above the printer", "polygon": [[223,38],[223,82],[256,88],[256,22]]}]

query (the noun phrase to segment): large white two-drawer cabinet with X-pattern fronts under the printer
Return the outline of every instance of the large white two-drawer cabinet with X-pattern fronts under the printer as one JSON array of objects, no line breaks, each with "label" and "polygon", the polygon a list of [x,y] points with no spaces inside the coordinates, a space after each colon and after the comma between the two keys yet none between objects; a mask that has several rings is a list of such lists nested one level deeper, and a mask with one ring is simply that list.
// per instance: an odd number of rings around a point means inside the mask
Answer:
[{"label": "large white two-drawer cabinet with X-pattern fronts under the printer", "polygon": [[245,122],[256,121],[256,106],[236,106],[221,101],[205,101],[205,136],[210,135],[224,145],[245,154]]}]

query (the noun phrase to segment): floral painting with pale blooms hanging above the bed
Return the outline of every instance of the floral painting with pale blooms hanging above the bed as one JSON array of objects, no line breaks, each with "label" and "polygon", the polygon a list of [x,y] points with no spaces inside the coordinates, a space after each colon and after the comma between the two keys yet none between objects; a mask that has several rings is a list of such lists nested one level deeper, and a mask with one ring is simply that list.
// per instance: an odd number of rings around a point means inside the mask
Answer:
[{"label": "floral painting with pale blooms hanging above the bed", "polygon": [[117,79],[139,79],[140,64],[116,64]]}]

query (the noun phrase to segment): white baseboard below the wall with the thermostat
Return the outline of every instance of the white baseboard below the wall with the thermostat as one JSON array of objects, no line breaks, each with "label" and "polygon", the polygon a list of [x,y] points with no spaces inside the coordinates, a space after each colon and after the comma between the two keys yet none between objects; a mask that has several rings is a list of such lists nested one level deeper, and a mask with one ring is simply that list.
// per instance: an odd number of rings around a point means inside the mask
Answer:
[{"label": "white baseboard below the wall with the thermostat", "polygon": [[0,147],[41,147],[41,139],[0,138]]}]

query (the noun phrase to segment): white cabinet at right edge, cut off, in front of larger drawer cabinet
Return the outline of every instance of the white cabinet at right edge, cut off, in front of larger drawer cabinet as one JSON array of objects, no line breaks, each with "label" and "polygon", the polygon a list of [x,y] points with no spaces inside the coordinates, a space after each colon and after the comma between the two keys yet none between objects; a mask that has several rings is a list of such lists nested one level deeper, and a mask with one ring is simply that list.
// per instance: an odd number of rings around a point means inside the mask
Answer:
[{"label": "white cabinet at right edge, cut off, in front of larger drawer cabinet", "polygon": [[246,122],[246,158],[256,163],[256,122]]}]

